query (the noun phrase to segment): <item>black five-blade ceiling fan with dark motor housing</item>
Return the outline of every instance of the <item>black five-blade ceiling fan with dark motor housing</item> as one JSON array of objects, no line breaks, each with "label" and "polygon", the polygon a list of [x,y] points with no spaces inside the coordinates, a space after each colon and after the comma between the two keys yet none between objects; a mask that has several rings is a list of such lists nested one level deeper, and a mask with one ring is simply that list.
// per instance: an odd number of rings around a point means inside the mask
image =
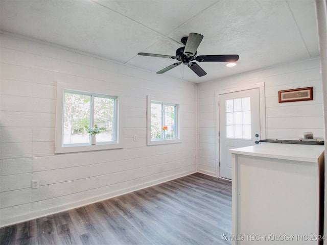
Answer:
[{"label": "black five-blade ceiling fan with dark motor housing", "polygon": [[158,54],[149,54],[149,53],[138,53],[138,55],[144,56],[152,56],[152,57],[159,57],[159,58],[168,58],[178,60],[179,62],[174,63],[165,67],[162,70],[157,71],[157,74],[162,74],[178,65],[183,63],[184,65],[188,65],[191,70],[195,72],[196,75],[202,77],[206,75],[206,72],[199,66],[197,62],[235,62],[239,59],[238,55],[197,55],[197,49],[203,39],[203,35],[198,33],[190,33],[188,37],[183,37],[181,42],[183,47],[177,48],[176,56],[171,55],[158,55]]}]

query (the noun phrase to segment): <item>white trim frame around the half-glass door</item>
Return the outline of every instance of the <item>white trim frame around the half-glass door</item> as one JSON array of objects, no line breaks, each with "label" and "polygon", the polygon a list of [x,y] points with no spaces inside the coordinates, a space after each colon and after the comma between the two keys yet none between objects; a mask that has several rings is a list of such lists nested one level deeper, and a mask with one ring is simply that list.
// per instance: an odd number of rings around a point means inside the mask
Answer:
[{"label": "white trim frame around the half-glass door", "polygon": [[216,143],[216,176],[220,177],[220,125],[219,125],[219,95],[225,93],[240,92],[253,88],[259,88],[259,103],[260,103],[260,139],[266,139],[266,100],[265,100],[265,83],[236,85],[235,88],[222,87],[215,92],[215,143]]}]

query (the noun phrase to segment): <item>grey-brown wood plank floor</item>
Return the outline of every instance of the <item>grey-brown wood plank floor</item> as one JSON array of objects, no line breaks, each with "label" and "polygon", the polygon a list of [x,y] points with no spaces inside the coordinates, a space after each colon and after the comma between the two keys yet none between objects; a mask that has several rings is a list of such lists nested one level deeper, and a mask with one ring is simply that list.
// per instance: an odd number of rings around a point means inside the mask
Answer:
[{"label": "grey-brown wood plank floor", "polygon": [[1,244],[230,244],[231,182],[199,173],[0,229]]}]

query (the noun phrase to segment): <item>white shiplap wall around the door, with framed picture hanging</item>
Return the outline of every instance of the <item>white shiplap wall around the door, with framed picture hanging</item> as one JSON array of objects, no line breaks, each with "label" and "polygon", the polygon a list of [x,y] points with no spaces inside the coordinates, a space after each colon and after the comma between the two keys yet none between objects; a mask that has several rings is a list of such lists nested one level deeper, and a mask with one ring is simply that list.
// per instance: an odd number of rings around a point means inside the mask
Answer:
[{"label": "white shiplap wall around the door, with framed picture hanging", "polygon": [[[323,97],[319,58],[247,72],[198,85],[198,170],[219,175],[215,93],[265,84],[267,139],[296,139],[303,132],[323,137]],[[278,90],[313,87],[313,101],[278,103]]]}]

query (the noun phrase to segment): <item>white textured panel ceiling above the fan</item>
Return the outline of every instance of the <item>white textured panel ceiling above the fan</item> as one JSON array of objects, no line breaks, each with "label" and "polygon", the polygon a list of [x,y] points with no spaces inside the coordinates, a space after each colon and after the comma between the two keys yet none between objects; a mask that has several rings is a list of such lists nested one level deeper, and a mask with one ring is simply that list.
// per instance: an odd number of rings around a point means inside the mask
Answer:
[{"label": "white textured panel ceiling above the fan", "polygon": [[2,31],[156,71],[176,60],[189,33],[204,36],[198,55],[238,54],[237,66],[198,62],[165,74],[194,83],[319,55],[314,0],[1,0]]}]

